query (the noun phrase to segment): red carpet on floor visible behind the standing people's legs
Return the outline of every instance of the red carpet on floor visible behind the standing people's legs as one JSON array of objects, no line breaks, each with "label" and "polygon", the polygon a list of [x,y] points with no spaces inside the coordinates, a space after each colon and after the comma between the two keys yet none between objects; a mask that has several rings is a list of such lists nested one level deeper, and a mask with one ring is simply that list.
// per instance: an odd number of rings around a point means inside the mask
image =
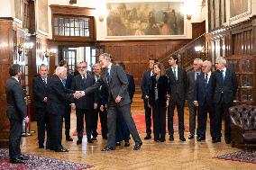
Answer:
[{"label": "red carpet on floor visible behind the standing people's legs", "polygon": [[[146,133],[145,114],[133,113],[133,120],[135,121],[138,132],[139,133]],[[86,126],[84,126],[84,128],[85,127]],[[178,131],[178,116],[174,116],[174,118],[173,118],[173,127],[174,127],[174,131],[177,132]],[[152,126],[151,126],[151,129],[152,129]],[[189,128],[185,125],[185,131],[187,132],[188,130],[189,130]],[[97,132],[99,134],[101,134],[101,127],[100,127],[100,122],[99,121],[98,121],[98,124],[97,124]],[[168,130],[167,130],[167,132],[168,132]],[[87,134],[86,130],[84,130],[84,135],[86,135],[86,134]],[[73,136],[77,136],[77,135],[78,135],[78,132],[77,132],[77,130],[75,130],[73,132]]]}]

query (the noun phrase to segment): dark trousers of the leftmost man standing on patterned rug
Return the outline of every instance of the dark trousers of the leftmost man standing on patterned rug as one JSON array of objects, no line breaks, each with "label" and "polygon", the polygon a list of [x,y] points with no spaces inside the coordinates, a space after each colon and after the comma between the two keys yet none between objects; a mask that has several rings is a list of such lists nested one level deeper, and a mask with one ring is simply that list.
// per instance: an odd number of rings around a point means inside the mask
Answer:
[{"label": "dark trousers of the leftmost man standing on patterned rug", "polygon": [[10,159],[18,158],[21,155],[21,138],[23,133],[23,121],[10,119],[10,143],[9,157]]}]

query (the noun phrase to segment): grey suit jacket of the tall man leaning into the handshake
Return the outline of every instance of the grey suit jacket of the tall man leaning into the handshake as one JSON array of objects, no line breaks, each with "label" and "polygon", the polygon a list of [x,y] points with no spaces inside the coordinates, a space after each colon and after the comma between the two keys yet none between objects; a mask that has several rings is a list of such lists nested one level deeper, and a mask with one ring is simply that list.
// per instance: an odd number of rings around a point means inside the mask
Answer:
[{"label": "grey suit jacket of the tall man leaning into the handshake", "polygon": [[96,90],[100,85],[107,85],[108,89],[108,102],[111,97],[115,98],[119,95],[122,97],[119,106],[131,103],[130,96],[128,94],[128,79],[125,75],[123,68],[120,66],[112,65],[109,75],[109,80],[107,81],[107,70],[105,70],[101,78],[96,82],[96,85],[88,87],[84,92],[85,94],[90,94]]}]

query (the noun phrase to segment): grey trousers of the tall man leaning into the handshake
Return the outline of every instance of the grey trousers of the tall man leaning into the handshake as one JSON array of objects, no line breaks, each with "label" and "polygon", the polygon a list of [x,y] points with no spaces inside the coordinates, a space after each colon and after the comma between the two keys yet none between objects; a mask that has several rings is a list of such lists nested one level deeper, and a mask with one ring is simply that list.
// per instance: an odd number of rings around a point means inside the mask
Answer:
[{"label": "grey trousers of the tall man leaning into the handshake", "polygon": [[127,124],[128,129],[130,130],[133,140],[136,144],[142,143],[139,133],[136,129],[135,123],[133,121],[131,113],[131,104],[124,104],[120,106],[118,103],[114,102],[112,98],[108,103],[107,109],[107,128],[108,128],[108,137],[107,137],[107,146],[115,148],[115,130],[116,130],[116,118],[117,114],[123,115],[123,120]]}]

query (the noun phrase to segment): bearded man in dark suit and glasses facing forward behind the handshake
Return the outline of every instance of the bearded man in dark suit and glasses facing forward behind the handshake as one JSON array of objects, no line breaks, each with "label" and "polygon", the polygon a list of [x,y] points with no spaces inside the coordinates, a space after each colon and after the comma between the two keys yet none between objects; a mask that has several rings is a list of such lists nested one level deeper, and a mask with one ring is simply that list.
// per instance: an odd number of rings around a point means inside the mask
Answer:
[{"label": "bearded man in dark suit and glasses facing forward behind the handshake", "polygon": [[[75,76],[72,81],[71,89],[74,91],[81,91],[89,86],[95,85],[96,81],[94,76],[87,73],[87,62],[78,63],[78,72],[80,75]],[[92,135],[92,122],[94,109],[97,108],[96,103],[96,92],[87,94],[79,99],[75,100],[76,114],[77,114],[77,130],[78,130],[78,141],[77,144],[82,143],[84,133],[84,118],[86,121],[87,130],[87,142],[93,143],[91,138]]]}]

